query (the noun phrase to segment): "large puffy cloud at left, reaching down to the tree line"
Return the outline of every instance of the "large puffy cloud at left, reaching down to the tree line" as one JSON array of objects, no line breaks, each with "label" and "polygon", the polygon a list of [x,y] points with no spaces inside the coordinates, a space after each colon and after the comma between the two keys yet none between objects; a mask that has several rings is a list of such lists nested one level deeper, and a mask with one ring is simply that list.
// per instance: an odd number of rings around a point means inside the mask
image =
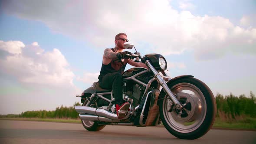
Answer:
[{"label": "large puffy cloud at left, reaching down to the tree line", "polygon": [[[81,90],[73,84],[75,75],[58,49],[45,52],[37,42],[0,41],[0,50],[9,52],[0,59],[0,114],[54,110],[79,101],[75,95]],[[15,106],[7,109],[10,101]]]}]

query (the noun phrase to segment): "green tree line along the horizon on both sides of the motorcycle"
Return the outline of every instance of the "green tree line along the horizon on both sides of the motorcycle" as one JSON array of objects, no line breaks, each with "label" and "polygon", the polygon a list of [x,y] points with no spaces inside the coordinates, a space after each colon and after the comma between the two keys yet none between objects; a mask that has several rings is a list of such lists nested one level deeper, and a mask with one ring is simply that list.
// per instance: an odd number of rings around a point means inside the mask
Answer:
[{"label": "green tree line along the horizon on both sides of the motorcycle", "polygon": [[[250,92],[249,97],[240,95],[239,97],[230,95],[223,96],[216,95],[217,103],[217,117],[222,118],[224,121],[236,120],[241,117],[256,118],[256,98],[253,92]],[[0,115],[0,117],[7,118],[79,118],[79,114],[75,111],[74,106],[80,105],[79,102],[71,107],[57,107],[55,111],[25,111],[20,115]]]}]

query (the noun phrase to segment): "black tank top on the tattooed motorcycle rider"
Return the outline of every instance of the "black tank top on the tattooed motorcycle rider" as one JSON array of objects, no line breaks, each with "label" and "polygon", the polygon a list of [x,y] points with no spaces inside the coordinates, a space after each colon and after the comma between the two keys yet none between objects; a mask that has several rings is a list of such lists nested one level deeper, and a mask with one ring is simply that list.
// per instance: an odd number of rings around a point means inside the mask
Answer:
[{"label": "black tank top on the tattooed motorcycle rider", "polygon": [[[113,52],[115,52],[114,49],[111,49]],[[119,72],[123,74],[125,72],[125,66],[128,62],[128,59],[125,59],[124,62],[120,62],[119,59],[112,59],[112,61],[108,65],[103,65],[100,71],[100,74],[98,76],[98,79],[101,79],[102,76],[112,73],[112,72]]]}]

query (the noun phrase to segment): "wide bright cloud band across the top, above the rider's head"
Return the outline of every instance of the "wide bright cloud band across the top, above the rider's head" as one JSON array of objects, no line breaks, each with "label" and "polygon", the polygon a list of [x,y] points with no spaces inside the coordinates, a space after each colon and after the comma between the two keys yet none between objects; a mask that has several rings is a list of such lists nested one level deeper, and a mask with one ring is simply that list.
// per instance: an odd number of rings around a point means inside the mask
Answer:
[{"label": "wide bright cloud band across the top, above the rider's head", "polygon": [[[182,2],[184,9],[194,7],[189,1]],[[195,51],[198,60],[217,59],[230,52],[256,55],[254,27],[234,26],[220,16],[178,12],[168,0],[131,0],[125,5],[113,0],[8,0],[3,9],[21,18],[43,22],[55,33],[100,49],[112,46],[113,37],[125,32],[133,43],[146,43],[150,52],[164,55],[181,54],[188,49]]]}]

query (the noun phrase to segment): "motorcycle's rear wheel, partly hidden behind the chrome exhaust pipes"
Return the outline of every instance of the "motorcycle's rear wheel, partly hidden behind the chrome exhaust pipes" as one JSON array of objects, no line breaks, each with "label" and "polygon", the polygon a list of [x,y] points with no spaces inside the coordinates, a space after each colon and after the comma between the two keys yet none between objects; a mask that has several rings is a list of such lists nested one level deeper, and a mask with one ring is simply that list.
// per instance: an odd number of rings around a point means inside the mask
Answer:
[{"label": "motorcycle's rear wheel, partly hidden behind the chrome exhaust pipes", "polygon": [[[84,101],[83,106],[85,106],[87,104],[87,99]],[[96,107],[95,105],[92,105],[90,107]],[[82,125],[84,126],[84,128],[88,131],[100,131],[102,130],[106,125],[100,125],[98,124],[98,121],[86,121],[86,120],[81,120],[82,121]]]}]

